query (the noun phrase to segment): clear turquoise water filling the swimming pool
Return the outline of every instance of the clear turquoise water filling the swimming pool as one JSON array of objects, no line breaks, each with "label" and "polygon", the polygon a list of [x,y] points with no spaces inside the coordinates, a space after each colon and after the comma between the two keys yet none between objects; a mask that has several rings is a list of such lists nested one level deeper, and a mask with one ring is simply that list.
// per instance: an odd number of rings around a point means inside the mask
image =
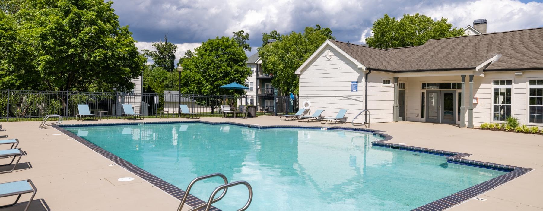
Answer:
[{"label": "clear turquoise water filling the swimming pool", "polygon": [[[214,172],[248,181],[249,210],[409,210],[506,173],[371,146],[380,138],[357,131],[203,123],[65,129],[181,189]],[[191,193],[207,201],[220,182],[200,181]],[[247,197],[247,188],[233,187],[213,205],[236,210]]]}]

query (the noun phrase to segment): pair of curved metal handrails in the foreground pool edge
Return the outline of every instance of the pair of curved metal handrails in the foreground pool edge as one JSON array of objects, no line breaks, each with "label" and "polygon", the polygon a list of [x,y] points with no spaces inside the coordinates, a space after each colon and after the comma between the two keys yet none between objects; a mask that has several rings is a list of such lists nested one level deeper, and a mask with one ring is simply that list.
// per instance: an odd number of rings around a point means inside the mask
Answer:
[{"label": "pair of curved metal handrails in the foreground pool edge", "polygon": [[[249,199],[248,199],[247,203],[245,203],[245,206],[243,206],[241,209],[238,209],[238,211],[243,211],[243,210],[249,208],[249,205],[251,204],[251,201],[252,201],[252,188],[251,188],[251,185],[248,182],[245,182],[245,181],[242,181],[242,180],[232,182],[232,183],[228,183],[228,178],[226,178],[226,176],[224,176],[223,174],[220,174],[220,173],[214,173],[214,174],[209,174],[209,175],[204,175],[204,176],[199,176],[199,177],[194,178],[194,180],[192,180],[191,183],[188,184],[187,190],[185,191],[185,195],[183,196],[183,199],[181,200],[181,204],[179,204],[179,208],[177,210],[181,211],[181,209],[185,205],[185,202],[187,201],[187,196],[188,196],[189,192],[191,191],[191,188],[194,185],[194,183],[196,183],[196,182],[198,182],[200,180],[205,180],[207,178],[217,177],[217,176],[223,178],[224,184],[222,186],[219,186],[219,187],[215,188],[215,190],[213,190],[213,193],[211,194],[211,196],[209,197],[209,200],[206,203],[200,204],[197,207],[193,207],[190,211],[198,210],[198,209],[203,208],[203,207],[206,207],[205,210],[208,211],[209,209],[211,209],[211,204],[213,204],[215,202],[218,202],[221,199],[223,199],[223,197],[226,195],[226,191],[228,190],[228,188],[230,188],[232,186],[237,186],[239,184],[244,184],[247,187],[247,189],[249,189]],[[215,195],[217,195],[217,193],[222,189],[224,189],[223,193],[220,194],[220,196],[217,197],[217,199],[213,199],[215,197]]]}]

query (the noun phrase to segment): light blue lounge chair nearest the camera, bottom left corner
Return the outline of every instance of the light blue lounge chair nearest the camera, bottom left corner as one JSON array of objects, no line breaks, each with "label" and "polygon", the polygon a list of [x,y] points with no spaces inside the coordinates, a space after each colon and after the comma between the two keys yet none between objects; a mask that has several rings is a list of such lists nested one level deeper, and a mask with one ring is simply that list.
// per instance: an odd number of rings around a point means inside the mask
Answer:
[{"label": "light blue lounge chair nearest the camera, bottom left corner", "polygon": [[21,199],[21,195],[32,193],[32,196],[30,196],[30,200],[27,203],[27,207],[24,208],[24,211],[27,211],[28,208],[30,207],[30,203],[32,202],[32,200],[34,200],[36,191],[37,189],[31,180],[21,180],[21,181],[16,181],[16,182],[0,183],[0,197],[18,195],[15,202],[13,202],[12,204],[1,206],[0,208],[14,206],[19,201],[19,199]]}]

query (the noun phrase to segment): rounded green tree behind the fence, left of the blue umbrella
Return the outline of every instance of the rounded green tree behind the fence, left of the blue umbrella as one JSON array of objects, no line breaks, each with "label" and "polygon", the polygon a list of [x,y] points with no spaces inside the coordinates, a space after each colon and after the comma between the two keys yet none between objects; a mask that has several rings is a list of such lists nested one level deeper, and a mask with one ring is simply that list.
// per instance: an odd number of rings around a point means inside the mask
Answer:
[{"label": "rounded green tree behind the fence, left of the blue umbrella", "polygon": [[[183,60],[181,93],[204,95],[241,95],[243,90],[219,88],[231,82],[245,84],[251,74],[245,65],[247,55],[239,43],[230,37],[216,37],[194,49],[194,55]],[[210,106],[212,112],[222,100],[198,100],[197,104]]]}]

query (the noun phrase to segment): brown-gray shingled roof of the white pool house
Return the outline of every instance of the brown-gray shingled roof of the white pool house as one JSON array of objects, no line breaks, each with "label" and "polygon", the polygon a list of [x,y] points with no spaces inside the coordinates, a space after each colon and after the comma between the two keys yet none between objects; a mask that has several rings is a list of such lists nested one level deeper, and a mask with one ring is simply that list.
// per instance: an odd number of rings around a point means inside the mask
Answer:
[{"label": "brown-gray shingled roof of the white pool house", "polygon": [[364,66],[394,72],[474,69],[543,69],[543,28],[428,40],[422,46],[377,49],[333,41]]}]

